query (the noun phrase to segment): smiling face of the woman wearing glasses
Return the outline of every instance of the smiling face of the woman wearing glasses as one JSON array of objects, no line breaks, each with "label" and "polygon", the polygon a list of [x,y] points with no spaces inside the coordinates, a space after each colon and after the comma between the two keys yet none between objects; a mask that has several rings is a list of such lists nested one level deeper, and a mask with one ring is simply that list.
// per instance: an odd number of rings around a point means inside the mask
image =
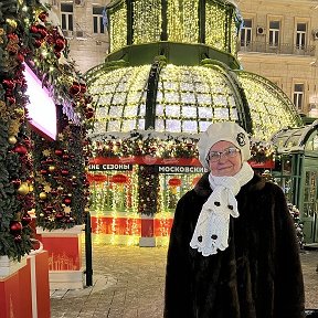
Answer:
[{"label": "smiling face of the woman wearing glasses", "polygon": [[[224,152],[225,151],[225,152]],[[221,152],[222,155],[220,156]],[[211,156],[213,155],[213,156]],[[212,174],[215,177],[231,177],[236,174],[242,167],[240,150],[230,141],[218,141],[214,144],[208,158]]]}]

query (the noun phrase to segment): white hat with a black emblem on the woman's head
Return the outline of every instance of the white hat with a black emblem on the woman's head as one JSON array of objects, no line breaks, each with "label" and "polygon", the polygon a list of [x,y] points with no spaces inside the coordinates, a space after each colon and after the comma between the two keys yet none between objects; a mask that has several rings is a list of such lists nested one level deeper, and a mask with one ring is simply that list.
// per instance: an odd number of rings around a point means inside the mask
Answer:
[{"label": "white hat with a black emblem on the woman's head", "polygon": [[250,138],[242,127],[233,121],[214,123],[201,134],[198,142],[199,160],[208,170],[210,170],[206,161],[209,151],[215,142],[221,140],[230,141],[241,150],[242,162],[251,158]]}]

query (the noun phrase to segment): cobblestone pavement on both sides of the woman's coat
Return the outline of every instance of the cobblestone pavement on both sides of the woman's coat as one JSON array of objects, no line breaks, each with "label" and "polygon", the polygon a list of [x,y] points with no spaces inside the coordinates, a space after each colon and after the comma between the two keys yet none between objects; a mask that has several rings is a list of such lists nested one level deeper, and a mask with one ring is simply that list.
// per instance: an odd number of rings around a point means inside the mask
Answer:
[{"label": "cobblestone pavement on both sides of the woman's coat", "polygon": [[[93,287],[51,290],[51,318],[162,318],[167,247],[93,246]],[[301,253],[306,308],[318,308],[318,252]]]}]

